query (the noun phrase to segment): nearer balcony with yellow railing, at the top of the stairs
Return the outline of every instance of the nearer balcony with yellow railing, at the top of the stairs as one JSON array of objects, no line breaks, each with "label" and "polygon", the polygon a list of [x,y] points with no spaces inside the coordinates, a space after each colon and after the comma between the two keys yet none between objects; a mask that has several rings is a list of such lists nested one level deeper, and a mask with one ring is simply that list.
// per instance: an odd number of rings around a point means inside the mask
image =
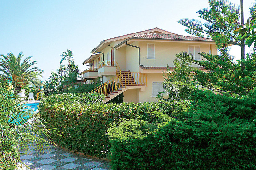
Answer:
[{"label": "nearer balcony with yellow railing, at the top of the stairs", "polygon": [[116,75],[121,71],[116,61],[103,61],[99,63],[98,76]]}]

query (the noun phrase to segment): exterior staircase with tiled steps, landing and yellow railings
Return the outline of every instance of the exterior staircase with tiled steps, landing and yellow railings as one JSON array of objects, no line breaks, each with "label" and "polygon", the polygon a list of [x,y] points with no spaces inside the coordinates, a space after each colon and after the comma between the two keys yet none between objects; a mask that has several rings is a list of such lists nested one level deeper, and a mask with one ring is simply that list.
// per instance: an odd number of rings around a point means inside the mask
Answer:
[{"label": "exterior staircase with tiled steps, landing and yellow railings", "polygon": [[128,89],[141,89],[144,91],[146,85],[146,74],[132,73],[130,71],[118,71],[116,77],[103,83],[91,92],[103,94],[105,96],[103,103],[107,103],[109,100]]}]

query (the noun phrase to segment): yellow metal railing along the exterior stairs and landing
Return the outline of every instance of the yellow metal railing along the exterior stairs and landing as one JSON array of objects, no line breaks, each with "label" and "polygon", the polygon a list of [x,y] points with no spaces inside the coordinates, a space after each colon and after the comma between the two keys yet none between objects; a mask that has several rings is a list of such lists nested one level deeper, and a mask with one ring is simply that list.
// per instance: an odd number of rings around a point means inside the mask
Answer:
[{"label": "yellow metal railing along the exterior stairs and landing", "polygon": [[100,93],[110,98],[110,95],[113,95],[114,92],[120,90],[121,88],[126,88],[126,86],[130,85],[147,85],[146,74],[126,72],[112,78],[91,92]]}]

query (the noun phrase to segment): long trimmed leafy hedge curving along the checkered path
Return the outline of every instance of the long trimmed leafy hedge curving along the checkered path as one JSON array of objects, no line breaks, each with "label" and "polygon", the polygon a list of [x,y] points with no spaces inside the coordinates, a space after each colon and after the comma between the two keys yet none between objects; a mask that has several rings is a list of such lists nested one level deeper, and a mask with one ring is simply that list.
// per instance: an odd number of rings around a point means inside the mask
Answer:
[{"label": "long trimmed leafy hedge curving along the checkered path", "polygon": [[97,157],[107,157],[110,148],[109,138],[105,135],[111,123],[122,119],[140,119],[154,122],[149,116],[151,110],[161,110],[168,115],[179,115],[188,108],[188,104],[173,103],[119,103],[119,104],[39,104],[41,116],[47,120],[47,126],[63,130],[63,136],[52,135],[60,146]]}]

